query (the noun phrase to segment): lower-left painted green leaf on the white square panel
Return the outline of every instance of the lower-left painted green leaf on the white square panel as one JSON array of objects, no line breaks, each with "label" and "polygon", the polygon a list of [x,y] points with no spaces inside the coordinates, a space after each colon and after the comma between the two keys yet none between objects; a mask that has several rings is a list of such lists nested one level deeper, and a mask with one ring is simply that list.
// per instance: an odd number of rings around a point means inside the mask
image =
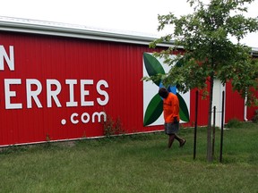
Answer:
[{"label": "lower-left painted green leaf on the white square panel", "polygon": [[163,101],[160,98],[159,94],[156,94],[155,96],[153,96],[153,98],[150,100],[150,104],[147,106],[144,115],[143,125],[147,126],[150,125],[152,122],[155,122],[162,112]]}]

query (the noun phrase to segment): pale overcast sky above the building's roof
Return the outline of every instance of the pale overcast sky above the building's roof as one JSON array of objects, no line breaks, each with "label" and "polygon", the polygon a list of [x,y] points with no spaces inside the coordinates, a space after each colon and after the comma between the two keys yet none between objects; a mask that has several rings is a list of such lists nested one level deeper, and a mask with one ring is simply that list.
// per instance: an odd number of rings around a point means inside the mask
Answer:
[{"label": "pale overcast sky above the building's roof", "polygon": [[[258,16],[258,0],[246,16]],[[95,29],[158,33],[158,14],[191,13],[186,0],[0,0],[0,16],[79,24]],[[258,47],[258,33],[248,35],[247,46]]]}]

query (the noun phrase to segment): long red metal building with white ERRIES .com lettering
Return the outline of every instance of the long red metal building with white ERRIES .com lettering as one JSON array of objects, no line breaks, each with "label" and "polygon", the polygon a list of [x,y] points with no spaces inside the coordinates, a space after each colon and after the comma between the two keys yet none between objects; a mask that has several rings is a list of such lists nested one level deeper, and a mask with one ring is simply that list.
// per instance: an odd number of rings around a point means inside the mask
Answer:
[{"label": "long red metal building with white ERRIES .com lettering", "polygon": [[[100,137],[109,115],[126,133],[162,130],[142,124],[142,55],[154,51],[152,39],[0,17],[0,147]],[[186,125],[194,121],[194,93]],[[244,104],[227,84],[225,121],[250,120],[254,108]],[[207,112],[200,100],[199,125]]]}]

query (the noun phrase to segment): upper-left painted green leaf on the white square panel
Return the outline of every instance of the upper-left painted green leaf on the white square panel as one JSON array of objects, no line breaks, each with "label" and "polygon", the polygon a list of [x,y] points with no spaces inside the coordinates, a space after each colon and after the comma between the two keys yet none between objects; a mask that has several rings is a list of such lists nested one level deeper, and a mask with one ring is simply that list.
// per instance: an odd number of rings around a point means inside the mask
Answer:
[{"label": "upper-left painted green leaf on the white square panel", "polygon": [[[162,65],[153,55],[150,55],[148,53],[143,53],[143,60],[144,60],[145,69],[148,72],[149,76],[155,76],[158,73],[165,74],[165,71]],[[159,87],[160,80],[156,80],[154,83]]]}]

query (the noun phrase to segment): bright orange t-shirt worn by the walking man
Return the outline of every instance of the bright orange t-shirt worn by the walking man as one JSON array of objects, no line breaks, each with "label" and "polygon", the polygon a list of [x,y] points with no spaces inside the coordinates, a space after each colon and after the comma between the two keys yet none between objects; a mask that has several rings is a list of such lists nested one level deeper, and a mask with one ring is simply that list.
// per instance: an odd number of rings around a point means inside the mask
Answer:
[{"label": "bright orange t-shirt worn by the walking man", "polygon": [[179,122],[179,101],[175,94],[169,93],[167,98],[163,98],[163,111],[165,122],[173,122],[174,117]]}]

